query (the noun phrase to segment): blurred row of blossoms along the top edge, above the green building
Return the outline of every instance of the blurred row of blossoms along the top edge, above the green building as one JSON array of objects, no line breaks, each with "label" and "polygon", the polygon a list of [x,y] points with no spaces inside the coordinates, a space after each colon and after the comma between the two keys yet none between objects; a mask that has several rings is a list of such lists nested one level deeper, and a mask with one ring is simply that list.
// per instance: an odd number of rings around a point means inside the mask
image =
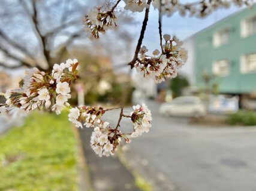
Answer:
[{"label": "blurred row of blossoms along the top edge, above the green building", "polygon": [[[152,5],[159,10],[161,7],[161,13],[171,16],[176,11],[181,16],[196,16],[206,17],[218,8],[229,8],[231,4],[241,7],[242,5],[249,5],[253,0],[203,0],[194,3],[181,4],[180,1],[174,0],[153,0]],[[160,5],[161,2],[161,5]]]}]

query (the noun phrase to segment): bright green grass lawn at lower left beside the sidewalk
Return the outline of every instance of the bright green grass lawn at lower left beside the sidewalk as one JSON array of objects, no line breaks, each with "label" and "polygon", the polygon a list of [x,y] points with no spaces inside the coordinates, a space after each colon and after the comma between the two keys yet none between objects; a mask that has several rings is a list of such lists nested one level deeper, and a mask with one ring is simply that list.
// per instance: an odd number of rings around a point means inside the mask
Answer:
[{"label": "bright green grass lawn at lower left beside the sidewalk", "polygon": [[67,113],[34,112],[0,137],[0,190],[77,190],[77,174]]}]

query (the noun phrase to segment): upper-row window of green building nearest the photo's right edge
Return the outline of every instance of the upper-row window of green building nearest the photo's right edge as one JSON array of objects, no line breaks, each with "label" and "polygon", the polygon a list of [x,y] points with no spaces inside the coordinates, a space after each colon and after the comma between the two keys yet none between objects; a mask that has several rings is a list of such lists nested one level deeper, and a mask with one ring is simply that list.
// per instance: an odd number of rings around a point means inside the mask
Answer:
[{"label": "upper-row window of green building nearest the photo's right edge", "polygon": [[242,20],[241,35],[247,37],[256,33],[256,16]]}]

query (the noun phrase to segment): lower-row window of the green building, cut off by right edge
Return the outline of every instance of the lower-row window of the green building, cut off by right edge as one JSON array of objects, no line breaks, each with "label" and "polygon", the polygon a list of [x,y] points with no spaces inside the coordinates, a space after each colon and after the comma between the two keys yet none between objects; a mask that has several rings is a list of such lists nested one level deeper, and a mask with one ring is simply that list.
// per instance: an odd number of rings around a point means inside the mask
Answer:
[{"label": "lower-row window of the green building, cut off by right edge", "polygon": [[242,73],[256,72],[256,53],[247,54],[242,57],[242,60],[240,63],[240,70]]}]

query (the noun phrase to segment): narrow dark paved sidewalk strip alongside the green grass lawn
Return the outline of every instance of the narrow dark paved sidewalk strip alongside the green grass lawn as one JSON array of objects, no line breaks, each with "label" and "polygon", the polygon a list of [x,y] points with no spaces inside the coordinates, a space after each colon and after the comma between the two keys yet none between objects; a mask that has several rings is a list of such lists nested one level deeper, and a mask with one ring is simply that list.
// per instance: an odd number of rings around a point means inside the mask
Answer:
[{"label": "narrow dark paved sidewalk strip alongside the green grass lawn", "polygon": [[118,157],[99,157],[91,149],[92,128],[79,130],[83,152],[89,167],[92,186],[95,191],[138,191],[131,172],[124,167]]}]

